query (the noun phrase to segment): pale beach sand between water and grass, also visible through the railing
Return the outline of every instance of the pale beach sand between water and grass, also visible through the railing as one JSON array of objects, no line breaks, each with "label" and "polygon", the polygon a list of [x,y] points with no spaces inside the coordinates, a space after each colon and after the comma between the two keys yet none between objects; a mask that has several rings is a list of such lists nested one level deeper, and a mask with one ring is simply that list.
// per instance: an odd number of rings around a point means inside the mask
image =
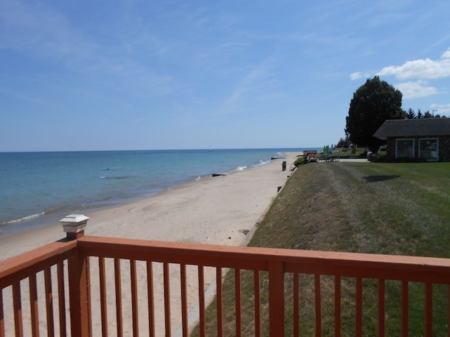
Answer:
[{"label": "pale beach sand between water and grass, also visible through the railing", "polygon": [[[202,244],[224,244],[224,245],[245,245],[248,243],[252,232],[257,227],[257,223],[262,219],[268,210],[271,201],[276,197],[279,187],[282,187],[288,176],[291,164],[296,159],[296,153],[285,154],[285,159],[274,159],[269,164],[243,171],[233,171],[226,176],[207,177],[175,187],[172,190],[161,192],[154,197],[134,201],[113,209],[106,209],[92,213],[86,213],[90,220],[87,223],[86,235],[101,237],[122,237],[129,239],[150,239],[169,242],[191,242]],[[282,163],[287,161],[287,171],[282,171]],[[64,237],[63,229],[60,225],[46,227],[13,234],[0,240],[0,260],[18,255],[30,249],[43,246],[49,242],[56,241]],[[94,267],[92,267],[94,265]],[[95,264],[91,268],[93,283],[93,301],[98,300],[96,291]],[[138,265],[138,268],[144,266]],[[129,265],[122,266],[126,275]],[[111,268],[110,268],[111,269]],[[155,294],[162,293],[162,285],[156,282],[162,279],[160,266],[155,266]],[[171,269],[171,277],[176,280],[179,271]],[[146,272],[141,273],[145,278]],[[189,275],[195,278],[195,270]],[[214,270],[205,271],[205,289],[210,284],[214,284]],[[122,278],[124,287],[127,288],[127,278]],[[145,279],[138,279],[139,284],[145,289]],[[113,282],[110,277],[108,283]],[[129,283],[129,282],[128,282]],[[162,283],[162,282],[160,282]],[[176,282],[175,282],[176,283]],[[188,279],[190,293],[188,298],[189,308],[195,307],[195,280]],[[107,284],[108,289],[114,288],[114,284]],[[159,288],[161,287],[161,288]],[[171,286],[172,288],[172,286]],[[174,289],[177,285],[174,284]],[[210,293],[214,294],[210,290]],[[123,290],[124,291],[124,290]],[[114,306],[114,296],[108,301],[108,307]],[[179,298],[176,298],[176,291],[172,294],[176,308]],[[26,298],[23,295],[23,298]],[[163,305],[163,299],[155,295],[155,308]],[[127,303],[124,303],[127,305]],[[141,304],[140,304],[141,305]],[[146,311],[146,301],[142,303],[142,309]],[[163,310],[156,310],[162,314]],[[141,312],[141,309],[140,309]],[[94,329],[98,329],[100,319],[96,315],[100,312],[93,309]],[[108,310],[108,317],[114,317],[114,309]],[[126,317],[131,312],[124,312],[124,330],[126,335],[131,332],[131,319]],[[140,314],[141,315],[141,314]],[[172,316],[173,330],[179,325],[181,313],[174,310]],[[195,315],[194,315],[195,317]],[[126,323],[127,321],[130,324]],[[140,319],[140,324],[146,319]],[[164,319],[156,317],[158,322],[157,331],[164,331]],[[142,322],[146,324],[146,322]],[[42,322],[43,326],[45,323]],[[115,329],[111,326],[111,329]],[[145,326],[143,326],[145,329]],[[113,330],[114,331],[114,330]],[[174,333],[176,334],[176,333]]]}]

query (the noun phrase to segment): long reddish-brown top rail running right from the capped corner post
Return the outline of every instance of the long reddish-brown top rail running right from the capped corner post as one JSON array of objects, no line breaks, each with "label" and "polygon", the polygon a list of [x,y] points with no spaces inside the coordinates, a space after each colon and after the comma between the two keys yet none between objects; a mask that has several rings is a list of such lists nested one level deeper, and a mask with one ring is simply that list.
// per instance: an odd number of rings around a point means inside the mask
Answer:
[{"label": "long reddish-brown top rail running right from the capped corner post", "polygon": [[450,284],[450,259],[446,258],[220,246],[109,237],[82,237],[78,241],[78,247],[89,256],[105,258],[264,271],[269,269],[269,262],[273,262],[283,263],[284,272]]}]

